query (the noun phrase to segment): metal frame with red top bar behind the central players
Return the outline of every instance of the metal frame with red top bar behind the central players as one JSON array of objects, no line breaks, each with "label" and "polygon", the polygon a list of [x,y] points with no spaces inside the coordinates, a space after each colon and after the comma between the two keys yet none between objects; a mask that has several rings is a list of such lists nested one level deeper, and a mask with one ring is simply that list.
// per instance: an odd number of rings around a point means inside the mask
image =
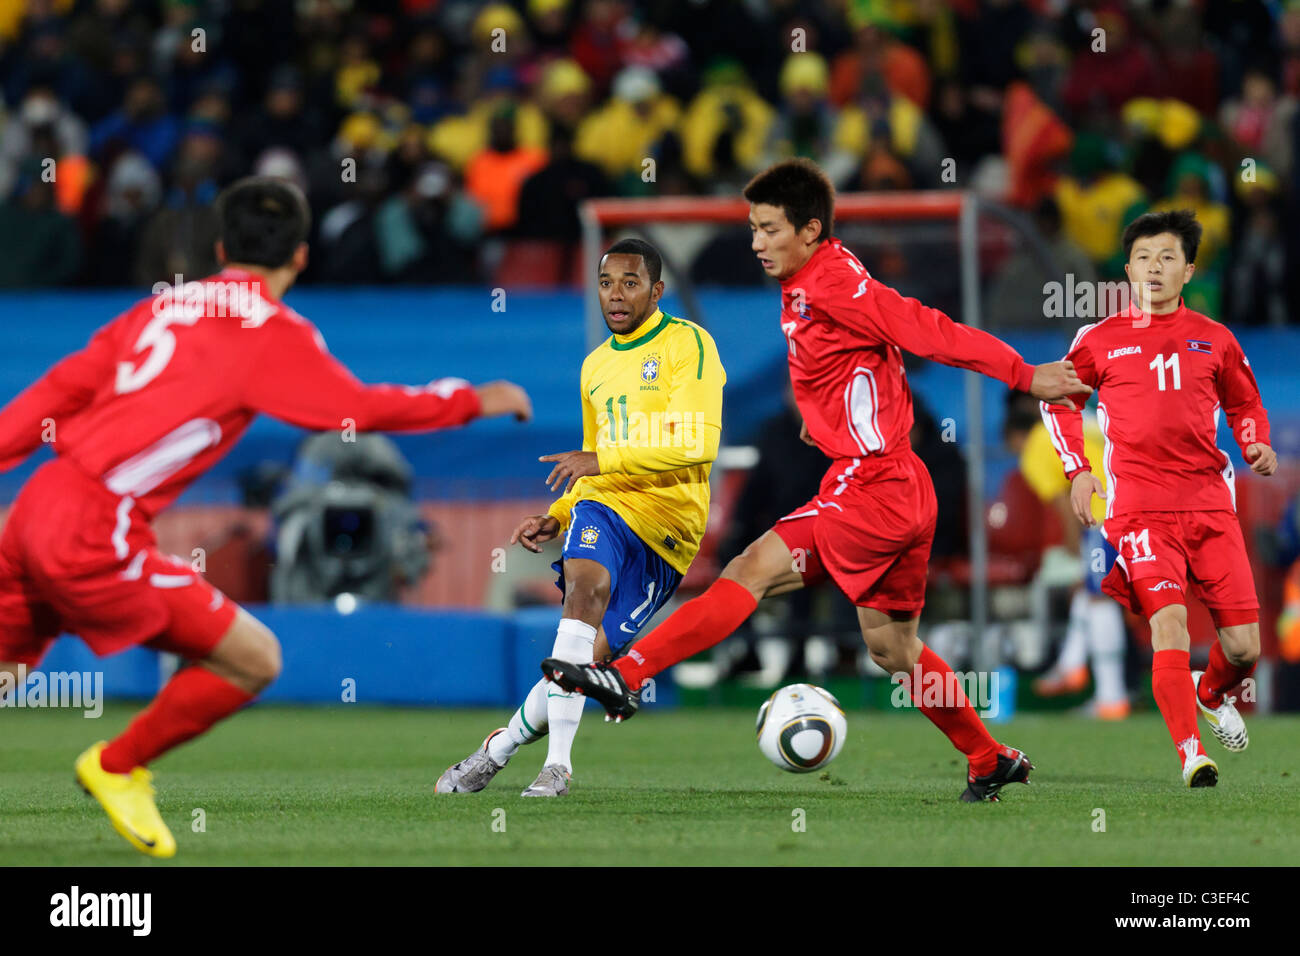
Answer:
[{"label": "metal frame with red top bar behind the central players", "polygon": [[[914,193],[848,193],[836,196],[836,232],[846,224],[940,222],[956,226],[958,248],[959,313],[953,317],[971,328],[980,328],[980,250],[979,217],[982,212],[997,212],[971,191],[914,191]],[[601,316],[599,297],[594,278],[601,255],[611,232],[644,233],[647,226],[662,225],[714,225],[738,226],[748,221],[749,203],[740,198],[720,196],[663,196],[636,199],[590,199],[578,209],[582,225],[584,306],[586,316],[588,347],[594,349],[607,334]],[[1000,215],[1000,219],[1008,219]],[[1022,224],[1014,224],[1023,230]],[[689,304],[693,294],[685,268],[673,258],[672,248],[663,248],[664,265],[675,273],[679,290]],[[757,267],[755,267],[757,268]],[[870,268],[870,267],[868,267]],[[777,308],[774,299],[774,312]],[[696,316],[692,316],[696,317]],[[707,323],[702,323],[706,324]],[[1000,665],[996,643],[984,640],[988,633],[988,541],[984,532],[984,464],[985,434],[980,376],[966,372],[965,402],[968,418],[967,511],[968,542],[971,553],[970,611],[974,626],[975,659],[978,669],[992,670]]]}]

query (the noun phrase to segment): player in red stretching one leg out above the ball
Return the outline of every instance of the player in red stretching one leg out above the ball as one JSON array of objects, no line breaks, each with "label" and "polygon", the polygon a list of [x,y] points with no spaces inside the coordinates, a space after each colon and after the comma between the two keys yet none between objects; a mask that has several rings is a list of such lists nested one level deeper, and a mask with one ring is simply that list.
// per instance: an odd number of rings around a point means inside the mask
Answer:
[{"label": "player in red stretching one leg out above the ball", "polygon": [[[1028,365],[993,336],[868,276],[831,237],[835,194],[812,163],[776,164],[745,187],[745,198],[754,252],[781,281],[781,330],[802,437],[832,464],[811,501],[627,657],[610,667],[549,658],[542,670],[566,689],[595,697],[615,718],[629,717],[645,678],[722,641],[763,597],[829,576],[858,606],[872,659],[905,680],[916,706],[966,754],[962,799],[996,800],[1004,784],[1028,782],[1032,763],[989,735],[956,675],[916,637],[937,506],[907,437],[911,392],[902,352],[983,372],[1048,401],[1091,389],[1069,362]],[[922,696],[927,685],[956,692],[936,705],[933,695]]]}]

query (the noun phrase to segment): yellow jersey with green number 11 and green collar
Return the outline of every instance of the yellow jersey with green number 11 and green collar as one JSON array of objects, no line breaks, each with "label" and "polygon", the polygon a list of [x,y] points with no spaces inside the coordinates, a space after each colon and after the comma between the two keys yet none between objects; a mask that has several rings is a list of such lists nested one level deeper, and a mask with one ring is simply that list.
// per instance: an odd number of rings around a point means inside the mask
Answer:
[{"label": "yellow jersey with green number 11 and green collar", "polygon": [[598,501],[685,574],[708,522],[725,382],[708,333],[663,311],[597,346],[582,362],[582,450],[601,473],[551,505],[560,527],[577,502]]}]

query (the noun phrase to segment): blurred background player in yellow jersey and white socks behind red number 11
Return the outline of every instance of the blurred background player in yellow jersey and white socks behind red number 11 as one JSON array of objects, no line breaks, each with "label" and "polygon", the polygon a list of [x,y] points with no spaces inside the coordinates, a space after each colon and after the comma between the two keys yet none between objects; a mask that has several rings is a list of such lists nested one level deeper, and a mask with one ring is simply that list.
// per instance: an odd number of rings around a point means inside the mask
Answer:
[{"label": "blurred background player in yellow jersey and white socks behind red number 11", "polygon": [[[1032,418],[1039,418],[1034,415],[1035,408],[1028,411]],[[1130,711],[1124,687],[1124,617],[1119,605],[1101,593],[1101,579],[1115,561],[1115,550],[1101,536],[1106,502],[1102,497],[1093,497],[1096,524],[1080,529],[1070,506],[1070,483],[1058,467],[1061,458],[1050,433],[1054,427],[1056,420],[1050,415],[1034,421],[1020,450],[1020,473],[1034,493],[1061,514],[1065,546],[1079,553],[1083,580],[1070,598],[1070,622],[1061,654],[1052,669],[1034,682],[1034,689],[1045,697],[1082,691],[1088,683],[1091,662],[1093,696],[1088,713],[1102,721],[1122,721]],[[1105,440],[1092,418],[1084,419],[1083,441],[1089,462],[1105,460]]]}]

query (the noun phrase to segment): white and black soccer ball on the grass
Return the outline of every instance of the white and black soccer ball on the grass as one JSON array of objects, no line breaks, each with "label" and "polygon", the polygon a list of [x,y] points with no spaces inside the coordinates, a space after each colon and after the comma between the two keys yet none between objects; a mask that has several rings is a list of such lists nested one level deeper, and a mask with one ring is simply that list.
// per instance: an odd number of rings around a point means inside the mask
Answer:
[{"label": "white and black soccer ball on the grass", "polygon": [[781,770],[824,767],[844,747],[849,724],[840,701],[812,684],[789,684],[758,709],[758,749]]}]

